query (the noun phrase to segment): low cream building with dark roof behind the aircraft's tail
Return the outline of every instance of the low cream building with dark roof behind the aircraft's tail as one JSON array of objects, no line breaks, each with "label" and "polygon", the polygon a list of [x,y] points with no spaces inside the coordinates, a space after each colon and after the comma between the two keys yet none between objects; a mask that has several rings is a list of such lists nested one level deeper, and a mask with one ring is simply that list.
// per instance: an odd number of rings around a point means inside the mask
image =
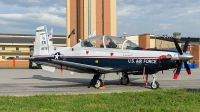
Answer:
[{"label": "low cream building with dark roof behind the aircraft's tail", "polygon": [[[27,57],[32,55],[35,35],[0,34],[0,60],[8,57]],[[54,35],[50,45],[66,46],[65,35]]]}]

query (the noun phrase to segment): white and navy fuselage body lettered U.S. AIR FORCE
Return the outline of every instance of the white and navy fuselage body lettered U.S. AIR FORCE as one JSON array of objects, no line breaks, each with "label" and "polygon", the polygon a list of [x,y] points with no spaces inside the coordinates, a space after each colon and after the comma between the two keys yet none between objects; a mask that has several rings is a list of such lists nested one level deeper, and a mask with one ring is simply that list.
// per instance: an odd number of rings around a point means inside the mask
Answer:
[{"label": "white and navy fuselage body lettered U.S. AIR FORCE", "polygon": [[[161,55],[171,55],[172,58],[169,60],[160,60],[159,56]],[[54,64],[52,59],[67,61],[73,63],[86,64],[91,66],[98,67],[109,67],[112,68],[111,72],[132,72],[132,71],[145,71],[149,73],[156,73],[160,70],[167,70],[176,67],[176,61],[178,57],[177,52],[168,52],[168,51],[150,51],[150,50],[119,50],[112,48],[87,48],[81,47],[70,48],[65,51],[61,51],[59,56],[47,55],[41,56],[42,59],[40,64],[51,65]],[[32,60],[37,62],[37,60]],[[57,63],[59,68],[60,63]],[[63,67],[65,64],[62,65]],[[73,67],[70,67],[73,69]],[[76,68],[76,67],[75,67]],[[65,67],[67,69],[67,67]],[[90,71],[90,69],[79,68],[83,71]],[[76,69],[77,70],[77,69]],[[92,70],[92,72],[97,72]],[[99,71],[101,72],[101,71]],[[103,71],[102,73],[105,73]]]}]

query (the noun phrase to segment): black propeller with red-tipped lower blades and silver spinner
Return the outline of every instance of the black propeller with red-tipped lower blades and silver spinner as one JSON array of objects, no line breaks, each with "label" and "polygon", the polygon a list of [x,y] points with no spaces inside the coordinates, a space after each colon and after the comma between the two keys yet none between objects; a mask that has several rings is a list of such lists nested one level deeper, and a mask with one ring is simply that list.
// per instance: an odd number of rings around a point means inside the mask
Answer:
[{"label": "black propeller with red-tipped lower blades and silver spinner", "polygon": [[176,68],[176,72],[174,73],[174,79],[178,79],[179,73],[181,71],[182,63],[184,63],[187,73],[189,75],[191,74],[190,67],[187,64],[187,61],[192,59],[193,56],[189,53],[186,53],[187,48],[188,48],[189,39],[190,39],[190,37],[188,37],[188,39],[186,40],[185,45],[183,47],[183,51],[182,51],[180,46],[178,45],[178,42],[176,41],[176,39],[173,38],[174,44],[179,53],[179,61],[177,61],[177,68]]}]

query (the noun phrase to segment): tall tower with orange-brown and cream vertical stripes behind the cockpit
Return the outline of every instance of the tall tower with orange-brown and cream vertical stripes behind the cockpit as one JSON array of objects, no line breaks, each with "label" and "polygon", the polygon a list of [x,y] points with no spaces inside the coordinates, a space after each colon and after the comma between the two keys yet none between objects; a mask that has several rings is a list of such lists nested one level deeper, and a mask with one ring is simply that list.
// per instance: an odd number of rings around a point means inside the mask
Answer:
[{"label": "tall tower with orange-brown and cream vertical stripes behind the cockpit", "polygon": [[96,35],[116,36],[116,0],[66,0],[66,34],[75,29],[67,40],[75,45],[96,31]]}]

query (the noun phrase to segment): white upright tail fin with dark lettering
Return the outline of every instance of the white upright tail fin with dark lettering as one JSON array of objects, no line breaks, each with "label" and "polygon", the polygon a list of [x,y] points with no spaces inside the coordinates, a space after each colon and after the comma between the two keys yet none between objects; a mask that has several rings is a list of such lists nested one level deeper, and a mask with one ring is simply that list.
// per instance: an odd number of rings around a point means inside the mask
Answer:
[{"label": "white upright tail fin with dark lettering", "polygon": [[49,53],[49,43],[47,38],[46,26],[36,28],[36,38],[34,43],[33,56]]}]

